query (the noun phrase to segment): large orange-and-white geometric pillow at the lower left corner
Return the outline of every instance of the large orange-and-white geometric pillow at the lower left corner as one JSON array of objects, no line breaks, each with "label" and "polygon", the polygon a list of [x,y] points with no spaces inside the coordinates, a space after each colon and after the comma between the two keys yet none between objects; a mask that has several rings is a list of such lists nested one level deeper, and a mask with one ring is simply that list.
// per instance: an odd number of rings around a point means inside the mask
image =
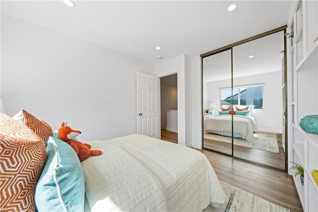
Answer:
[{"label": "large orange-and-white geometric pillow at the lower left corner", "polygon": [[34,192],[46,162],[41,138],[0,113],[0,211],[35,211]]}]

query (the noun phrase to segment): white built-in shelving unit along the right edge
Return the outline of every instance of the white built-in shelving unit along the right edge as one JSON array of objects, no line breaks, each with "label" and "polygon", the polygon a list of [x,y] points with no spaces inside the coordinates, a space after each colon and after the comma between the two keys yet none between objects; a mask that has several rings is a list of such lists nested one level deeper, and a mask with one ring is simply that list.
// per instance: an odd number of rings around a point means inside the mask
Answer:
[{"label": "white built-in shelving unit along the right edge", "polygon": [[[288,23],[288,161],[304,167],[304,186],[293,174],[305,212],[318,212],[318,185],[312,170],[318,169],[318,135],[299,127],[306,115],[318,115],[318,1],[294,2]],[[292,164],[289,164],[291,166]]]}]

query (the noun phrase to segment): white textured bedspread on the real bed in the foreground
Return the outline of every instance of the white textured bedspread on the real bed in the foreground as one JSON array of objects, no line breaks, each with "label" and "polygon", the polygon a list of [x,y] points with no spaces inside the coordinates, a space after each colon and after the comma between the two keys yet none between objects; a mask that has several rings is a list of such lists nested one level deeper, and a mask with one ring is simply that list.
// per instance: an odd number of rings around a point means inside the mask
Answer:
[{"label": "white textured bedspread on the real bed in the foreground", "polygon": [[204,154],[143,135],[88,141],[102,155],[81,162],[94,211],[197,211],[226,194]]}]

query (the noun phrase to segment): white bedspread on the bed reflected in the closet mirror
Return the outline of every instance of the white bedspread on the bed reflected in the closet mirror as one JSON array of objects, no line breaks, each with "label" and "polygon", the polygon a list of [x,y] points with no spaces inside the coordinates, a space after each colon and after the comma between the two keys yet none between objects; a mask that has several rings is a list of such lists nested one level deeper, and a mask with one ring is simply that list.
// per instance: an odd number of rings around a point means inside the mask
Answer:
[{"label": "white bedspread on the bed reflected in the closet mirror", "polygon": [[[217,115],[204,120],[203,131],[222,131],[232,132],[232,115]],[[250,116],[233,116],[233,133],[241,134],[246,141],[255,139],[253,132],[258,128],[253,117]]]}]

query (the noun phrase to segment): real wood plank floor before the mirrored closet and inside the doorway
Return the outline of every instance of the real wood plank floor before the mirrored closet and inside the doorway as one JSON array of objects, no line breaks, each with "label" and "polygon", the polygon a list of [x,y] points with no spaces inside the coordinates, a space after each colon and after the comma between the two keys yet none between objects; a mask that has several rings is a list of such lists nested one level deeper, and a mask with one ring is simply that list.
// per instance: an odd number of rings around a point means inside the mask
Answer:
[{"label": "real wood plank floor before the mirrored closet and inside the doorway", "polygon": [[[161,130],[161,139],[177,143],[177,134]],[[206,149],[198,151],[206,155],[220,180],[291,212],[303,211],[293,178],[288,173]]]}]

